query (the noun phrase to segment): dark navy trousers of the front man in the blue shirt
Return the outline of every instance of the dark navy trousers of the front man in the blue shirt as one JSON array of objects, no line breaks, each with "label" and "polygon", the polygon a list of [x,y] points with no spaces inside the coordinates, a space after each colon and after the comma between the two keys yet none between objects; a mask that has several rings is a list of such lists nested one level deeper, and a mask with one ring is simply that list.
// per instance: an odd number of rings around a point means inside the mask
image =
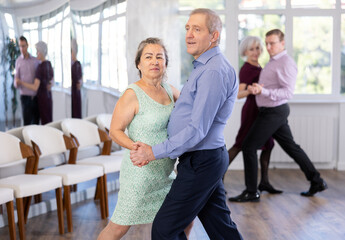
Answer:
[{"label": "dark navy trousers of the front man in the blue shirt", "polygon": [[153,221],[152,239],[187,239],[184,229],[196,216],[210,239],[242,239],[225,201],[225,146],[185,153],[179,161],[177,178]]}]

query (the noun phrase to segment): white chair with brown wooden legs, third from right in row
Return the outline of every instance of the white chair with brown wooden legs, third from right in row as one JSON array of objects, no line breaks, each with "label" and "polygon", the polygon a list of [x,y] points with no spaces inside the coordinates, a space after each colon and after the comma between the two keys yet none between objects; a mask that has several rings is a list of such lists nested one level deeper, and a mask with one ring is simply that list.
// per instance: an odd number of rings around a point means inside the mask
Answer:
[{"label": "white chair with brown wooden legs, third from right in row", "polygon": [[[48,126],[32,125],[23,129],[23,136],[25,143],[28,145],[30,144],[33,147],[37,160],[40,159],[41,156],[44,157],[52,154],[60,154],[70,150],[70,159],[68,160],[68,164],[40,170],[38,171],[38,175],[62,177],[62,185],[64,188],[64,206],[66,208],[67,215],[67,228],[69,232],[72,232],[73,222],[70,199],[71,186],[95,178],[97,178],[98,181],[103,184],[103,168],[95,165],[76,165],[75,156],[77,153],[77,144],[72,138],[65,136],[63,132],[59,131],[58,129]],[[39,161],[41,161],[41,159]],[[100,211],[102,219],[105,219],[105,193],[103,185],[101,186]]]}]

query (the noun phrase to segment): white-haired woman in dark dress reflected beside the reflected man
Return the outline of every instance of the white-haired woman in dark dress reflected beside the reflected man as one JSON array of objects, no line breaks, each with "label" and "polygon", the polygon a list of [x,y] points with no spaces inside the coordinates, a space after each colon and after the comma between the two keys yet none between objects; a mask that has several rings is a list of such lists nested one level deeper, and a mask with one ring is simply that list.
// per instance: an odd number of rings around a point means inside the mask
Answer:
[{"label": "white-haired woman in dark dress reflected beside the reflected man", "polygon": [[20,80],[17,85],[21,84],[26,88],[37,91],[37,101],[40,113],[41,124],[46,124],[53,121],[53,101],[51,86],[53,83],[54,71],[50,61],[46,60],[48,52],[47,44],[45,42],[38,42],[35,45],[37,51],[37,59],[41,62],[36,69],[34,83],[26,83]]}]

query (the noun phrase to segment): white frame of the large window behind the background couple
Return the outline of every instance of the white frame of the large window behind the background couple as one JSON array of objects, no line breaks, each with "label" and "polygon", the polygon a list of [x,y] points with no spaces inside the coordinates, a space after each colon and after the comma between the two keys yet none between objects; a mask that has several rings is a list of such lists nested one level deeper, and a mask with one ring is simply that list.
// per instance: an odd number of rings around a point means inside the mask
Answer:
[{"label": "white frame of the large window behind the background couple", "polygon": [[[345,94],[341,94],[341,16],[345,14],[345,8],[341,6],[341,0],[336,0],[334,8],[320,9],[320,8],[296,8],[291,6],[291,0],[286,0],[285,8],[280,9],[239,9],[237,1],[224,1],[224,10],[214,10],[217,14],[225,15],[226,26],[226,46],[225,55],[230,63],[235,68],[237,74],[239,71],[238,59],[238,31],[239,22],[238,15],[240,14],[274,14],[285,16],[285,48],[290,56],[293,56],[293,18],[308,16],[318,17],[327,16],[332,17],[333,24],[333,39],[331,49],[331,93],[330,94],[294,94],[292,101],[339,101],[345,99]],[[190,11],[181,10],[179,15],[189,15]],[[233,24],[236,22],[237,24]],[[344,23],[345,24],[345,23]]]}]

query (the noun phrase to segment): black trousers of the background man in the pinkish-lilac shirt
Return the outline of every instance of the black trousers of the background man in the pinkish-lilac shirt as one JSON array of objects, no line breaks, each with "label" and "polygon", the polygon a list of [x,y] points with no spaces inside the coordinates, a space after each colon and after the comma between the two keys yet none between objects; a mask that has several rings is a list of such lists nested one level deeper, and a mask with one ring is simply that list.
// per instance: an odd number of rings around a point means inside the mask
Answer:
[{"label": "black trousers of the background man in the pinkish-lilac shirt", "polygon": [[299,165],[311,183],[321,182],[320,173],[315,169],[303,149],[295,143],[288,124],[290,108],[283,104],[272,108],[259,108],[259,114],[243,141],[245,184],[249,192],[257,191],[258,161],[257,150],[273,136],[282,149]]}]

